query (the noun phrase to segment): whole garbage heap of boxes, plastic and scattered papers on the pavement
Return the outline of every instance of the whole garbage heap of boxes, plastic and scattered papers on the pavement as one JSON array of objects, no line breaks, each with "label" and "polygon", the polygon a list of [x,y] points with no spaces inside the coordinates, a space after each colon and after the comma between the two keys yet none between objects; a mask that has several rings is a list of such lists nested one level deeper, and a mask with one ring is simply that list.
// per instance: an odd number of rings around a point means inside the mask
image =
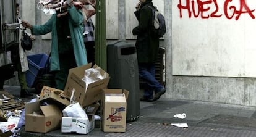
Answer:
[{"label": "whole garbage heap of boxes, plastic and scattered papers on the pavement", "polygon": [[95,128],[95,120],[100,120],[104,132],[125,132],[128,91],[108,89],[108,73],[91,65],[70,69],[64,91],[43,86],[40,95],[23,109],[7,112],[9,118],[0,123],[2,133],[15,136],[25,126],[27,132],[59,129],[61,133],[88,134]]}]

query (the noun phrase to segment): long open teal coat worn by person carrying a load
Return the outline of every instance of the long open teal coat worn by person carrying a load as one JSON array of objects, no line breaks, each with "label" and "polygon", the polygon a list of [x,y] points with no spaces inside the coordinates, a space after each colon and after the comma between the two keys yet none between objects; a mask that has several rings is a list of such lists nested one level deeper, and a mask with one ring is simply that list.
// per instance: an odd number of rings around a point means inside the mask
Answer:
[{"label": "long open teal coat worn by person carrying a load", "polygon": [[[75,61],[77,66],[87,64],[87,54],[83,43],[83,14],[81,10],[69,7],[69,28],[74,48]],[[51,19],[43,25],[33,25],[32,35],[45,35],[51,32],[51,60],[50,70],[60,70],[59,67],[59,50],[56,30],[57,15],[53,14]]]}]

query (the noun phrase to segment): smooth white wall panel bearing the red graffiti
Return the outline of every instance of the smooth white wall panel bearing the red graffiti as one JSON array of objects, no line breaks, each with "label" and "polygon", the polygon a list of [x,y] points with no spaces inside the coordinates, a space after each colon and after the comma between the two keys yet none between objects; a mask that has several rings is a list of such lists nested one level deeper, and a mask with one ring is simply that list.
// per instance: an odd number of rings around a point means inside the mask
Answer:
[{"label": "smooth white wall panel bearing the red graffiti", "polygon": [[[256,77],[256,12],[241,14],[237,19],[238,14],[234,14],[240,7],[242,11],[255,10],[256,1],[210,0],[202,6],[209,10],[198,17],[193,12],[189,17],[188,9],[180,10],[179,2],[172,1],[173,75]],[[198,13],[198,3],[194,2]],[[181,0],[182,6],[187,4]],[[192,11],[192,1],[189,7]],[[211,17],[215,11],[221,16]],[[225,11],[234,17],[228,19]]]}]

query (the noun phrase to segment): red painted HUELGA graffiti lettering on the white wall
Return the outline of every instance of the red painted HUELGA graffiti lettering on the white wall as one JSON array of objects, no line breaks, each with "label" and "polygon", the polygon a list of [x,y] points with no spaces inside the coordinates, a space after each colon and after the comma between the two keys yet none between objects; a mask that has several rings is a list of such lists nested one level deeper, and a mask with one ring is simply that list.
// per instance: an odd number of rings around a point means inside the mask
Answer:
[{"label": "red painted HUELGA graffiti lettering on the white wall", "polygon": [[[196,2],[195,2],[196,1]],[[223,5],[224,16],[227,19],[233,19],[235,17],[236,20],[239,20],[239,17],[242,14],[249,14],[252,19],[255,19],[254,14],[252,12],[254,10],[250,10],[249,6],[246,3],[246,0],[239,0],[240,7],[232,5],[233,0],[225,0]],[[189,18],[192,17],[201,17],[202,19],[208,19],[210,17],[221,17],[221,9],[219,8],[219,4],[217,0],[186,0],[186,4],[183,4],[181,0],[179,0],[179,4],[177,5],[179,8],[179,15],[182,18],[182,11],[187,10],[187,14]],[[212,9],[211,9],[212,8]],[[230,15],[229,15],[230,14]]]}]

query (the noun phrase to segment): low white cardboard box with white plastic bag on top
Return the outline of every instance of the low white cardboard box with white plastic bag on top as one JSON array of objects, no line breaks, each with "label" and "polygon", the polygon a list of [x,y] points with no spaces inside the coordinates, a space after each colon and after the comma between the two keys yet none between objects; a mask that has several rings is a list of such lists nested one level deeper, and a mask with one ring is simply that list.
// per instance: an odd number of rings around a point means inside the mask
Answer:
[{"label": "low white cardboard box with white plastic bag on top", "polygon": [[62,117],[61,132],[87,134],[95,127],[95,119],[93,115],[88,118],[81,117]]}]

